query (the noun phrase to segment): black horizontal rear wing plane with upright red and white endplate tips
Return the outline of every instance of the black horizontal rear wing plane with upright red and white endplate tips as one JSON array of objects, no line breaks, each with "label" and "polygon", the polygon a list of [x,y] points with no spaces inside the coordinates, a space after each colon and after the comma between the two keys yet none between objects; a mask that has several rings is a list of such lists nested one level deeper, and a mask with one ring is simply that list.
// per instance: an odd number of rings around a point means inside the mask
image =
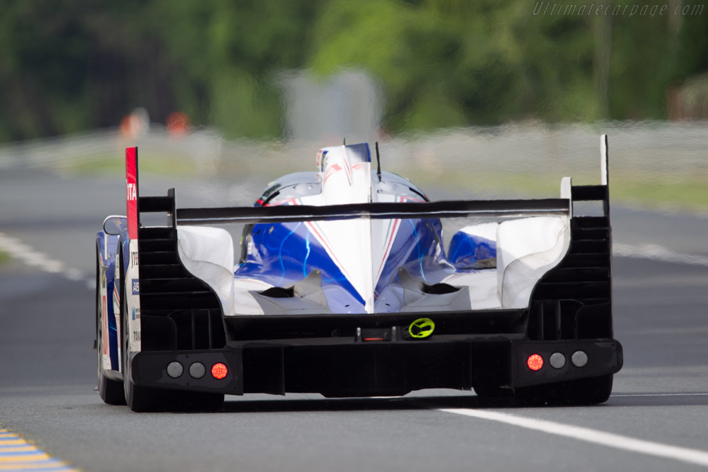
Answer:
[{"label": "black horizontal rear wing plane with upright red and white endplate tips", "polygon": [[[484,217],[514,218],[539,216],[573,217],[573,202],[600,201],[603,216],[610,216],[607,172],[607,135],[600,137],[600,185],[572,185],[571,178],[561,180],[561,197],[517,200],[445,200],[408,203],[355,203],[346,205],[277,205],[273,207],[176,208],[175,191],[165,197],[140,197],[138,188],[137,147],[125,150],[126,203],[130,238],[137,237],[140,214],[166,212],[170,226],[178,224],[255,224],[333,219],[407,219]],[[130,231],[135,229],[135,232]]]}]

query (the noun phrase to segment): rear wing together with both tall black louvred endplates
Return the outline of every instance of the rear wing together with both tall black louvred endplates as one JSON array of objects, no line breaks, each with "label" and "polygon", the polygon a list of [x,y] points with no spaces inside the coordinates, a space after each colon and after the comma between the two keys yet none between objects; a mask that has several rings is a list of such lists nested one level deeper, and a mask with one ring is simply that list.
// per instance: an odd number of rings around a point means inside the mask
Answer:
[{"label": "rear wing together with both tall black louvred endplates", "polygon": [[[364,203],[324,207],[282,205],[177,209],[174,189],[170,189],[166,196],[139,195],[137,148],[128,148],[126,168],[129,171],[135,170],[135,174],[126,175],[127,214],[129,225],[135,228],[137,233],[137,238],[130,236],[131,247],[135,248],[132,249],[135,253],[131,251],[130,257],[133,260],[135,256],[135,262],[139,260],[139,263],[127,266],[129,270],[134,270],[127,278],[131,278],[134,282],[139,280],[139,300],[138,296],[133,297],[135,299],[133,304],[141,312],[139,318],[129,320],[131,329],[139,336],[141,328],[138,323],[144,323],[144,333],[146,333],[142,337],[144,350],[158,350],[164,347],[161,344],[164,339],[149,335],[150,332],[173,333],[176,341],[169,346],[177,350],[210,349],[222,347],[226,343],[222,319],[224,308],[217,294],[212,287],[188,272],[178,257],[178,225],[255,224],[355,218],[559,216],[570,220],[570,247],[561,263],[547,272],[534,289],[528,315],[529,335],[537,340],[559,340],[565,330],[573,329],[576,330],[576,335],[581,333],[590,338],[611,338],[612,236],[605,135],[601,137],[600,155],[600,185],[572,185],[571,178],[564,178],[561,180],[560,198],[553,199]],[[575,217],[573,204],[579,201],[601,202],[602,216]],[[132,205],[135,207],[133,208]],[[141,216],[148,213],[168,214],[167,224],[143,226],[140,223]],[[137,265],[139,265],[139,275]],[[130,297],[130,292],[127,295]],[[484,324],[486,330],[493,325],[501,330],[500,332],[508,333],[510,331],[505,329],[511,318],[500,316],[500,313],[507,313],[513,319],[517,319],[519,315],[518,311],[478,311],[478,316],[474,317],[475,323],[481,323],[480,326]],[[562,313],[568,313],[571,322],[568,322]],[[580,321],[573,321],[576,319],[576,314]],[[316,316],[321,320],[316,326],[329,328],[327,320],[333,318],[329,315]],[[379,313],[376,316],[387,315]],[[459,316],[459,313],[452,316]],[[337,314],[336,317],[337,323],[341,323],[341,319],[348,319],[353,323],[352,326],[362,326],[363,323],[362,315],[346,318],[346,315]],[[237,318],[229,323],[236,323],[239,332],[246,329],[247,324],[250,327],[248,329],[254,332],[268,331],[271,333],[269,338],[273,339],[278,338],[280,330],[283,330],[283,333],[286,333],[283,336],[287,337],[287,330],[293,326],[301,326],[300,323],[307,325],[308,329],[315,326],[311,318],[305,315]],[[140,350],[140,346],[131,346],[131,350]]]}]

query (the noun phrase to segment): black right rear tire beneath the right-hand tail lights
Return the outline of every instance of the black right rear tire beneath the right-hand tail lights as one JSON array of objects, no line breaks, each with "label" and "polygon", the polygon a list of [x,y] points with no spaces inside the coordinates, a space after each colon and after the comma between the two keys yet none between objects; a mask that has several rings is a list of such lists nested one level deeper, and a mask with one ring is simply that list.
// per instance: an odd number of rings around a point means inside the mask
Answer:
[{"label": "black right rear tire beneath the right-hand tail lights", "polygon": [[516,401],[521,405],[597,405],[612,393],[612,374],[577,379],[559,384],[517,388]]}]

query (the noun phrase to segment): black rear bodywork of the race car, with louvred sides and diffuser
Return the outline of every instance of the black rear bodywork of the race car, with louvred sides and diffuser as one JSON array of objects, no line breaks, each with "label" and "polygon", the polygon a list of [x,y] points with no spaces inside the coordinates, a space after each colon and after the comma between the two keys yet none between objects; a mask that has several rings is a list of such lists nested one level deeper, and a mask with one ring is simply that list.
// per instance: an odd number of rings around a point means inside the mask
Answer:
[{"label": "black rear bodywork of the race car, with louvred sides and diffuser", "polygon": [[[608,376],[611,388],[611,375],[622,367],[622,346],[612,335],[607,185],[573,186],[564,201],[583,200],[601,202],[602,214],[571,218],[569,251],[537,283],[527,309],[223,316],[216,294],[178,258],[176,225],[181,215],[191,221],[197,210],[176,210],[173,190],[167,197],[139,197],[139,213],[166,212],[170,223],[139,229],[142,352],[132,359],[133,381],[235,395],[386,396],[422,388],[481,392],[489,386],[515,391]],[[434,321],[433,335],[407,336],[409,325],[423,317]],[[583,367],[570,362],[578,350],[588,357]],[[563,367],[549,364],[554,352],[568,359]],[[546,361],[535,372],[526,364],[532,354]],[[174,361],[184,366],[178,378],[166,372]],[[207,366],[200,379],[188,374],[194,362]],[[229,369],[221,380],[208,373],[217,362]]]}]

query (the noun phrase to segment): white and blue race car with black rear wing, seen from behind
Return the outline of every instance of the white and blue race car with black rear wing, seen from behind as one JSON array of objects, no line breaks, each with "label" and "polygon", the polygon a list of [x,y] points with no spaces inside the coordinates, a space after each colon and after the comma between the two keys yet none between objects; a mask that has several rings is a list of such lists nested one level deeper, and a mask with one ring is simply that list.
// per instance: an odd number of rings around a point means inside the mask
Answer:
[{"label": "white and blue race car with black rear wing, seen from behind", "polygon": [[[177,209],[174,189],[139,195],[128,148],[126,216],[96,237],[101,398],[214,410],[224,394],[474,388],[520,403],[604,402],[622,345],[605,135],[600,151],[600,185],[564,178],[559,198],[431,202],[372,168],[368,144],[331,146],[314,172],[275,180],[253,207]],[[573,211],[586,200],[600,214]],[[166,223],[148,224],[154,213]],[[450,219],[469,224],[447,241]],[[234,223],[236,251],[222,227]]]}]

